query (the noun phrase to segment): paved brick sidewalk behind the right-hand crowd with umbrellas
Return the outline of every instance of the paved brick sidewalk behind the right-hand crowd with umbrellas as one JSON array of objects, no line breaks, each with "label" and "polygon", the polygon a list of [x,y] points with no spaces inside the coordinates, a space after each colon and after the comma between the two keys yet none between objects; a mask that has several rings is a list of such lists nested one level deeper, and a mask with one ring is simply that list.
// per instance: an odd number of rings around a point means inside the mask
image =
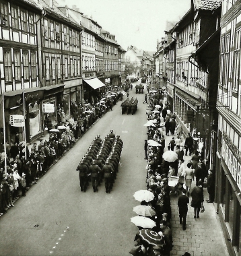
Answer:
[{"label": "paved brick sidewalk behind the right-hand crowd with umbrellas", "polygon": [[[166,136],[166,145],[172,137]],[[183,139],[183,138],[182,138]],[[187,164],[191,156],[184,156],[184,163]],[[192,183],[192,188],[195,186],[195,181]],[[193,207],[191,207],[191,197],[189,197],[190,203],[188,205],[188,214],[186,218],[186,230],[182,230],[182,225],[179,224],[178,214],[178,197],[176,195],[170,195],[171,208],[172,208],[172,236],[174,247],[170,255],[183,255],[185,252],[191,254],[191,256],[228,256],[228,249],[224,240],[223,232],[221,231],[221,224],[219,217],[216,214],[213,203],[206,203],[206,199],[209,198],[207,189],[204,188],[204,207],[205,212],[200,214],[199,219],[194,218]]]}]

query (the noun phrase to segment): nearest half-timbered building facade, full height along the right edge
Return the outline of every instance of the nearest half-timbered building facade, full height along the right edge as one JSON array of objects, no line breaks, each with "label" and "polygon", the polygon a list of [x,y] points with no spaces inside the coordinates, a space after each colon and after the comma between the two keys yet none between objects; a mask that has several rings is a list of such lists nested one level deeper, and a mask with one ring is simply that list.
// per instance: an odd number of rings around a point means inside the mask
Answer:
[{"label": "nearest half-timbered building facade, full height along the right edge", "polygon": [[223,1],[217,96],[217,212],[230,255],[241,255],[240,1]]}]

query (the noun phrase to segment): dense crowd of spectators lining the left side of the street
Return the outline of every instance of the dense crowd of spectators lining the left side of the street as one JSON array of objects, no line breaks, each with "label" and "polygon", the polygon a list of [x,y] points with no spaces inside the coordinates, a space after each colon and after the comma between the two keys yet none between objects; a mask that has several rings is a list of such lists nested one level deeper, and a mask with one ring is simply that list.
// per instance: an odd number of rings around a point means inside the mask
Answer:
[{"label": "dense crowd of spectators lining the left side of the street", "polygon": [[[6,152],[1,152],[0,162],[0,216],[7,208],[14,207],[14,201],[26,196],[26,191],[55,164],[75,141],[83,135],[121,98],[122,90],[108,91],[96,98],[94,103],[85,102],[83,106],[71,102],[71,119],[63,119],[63,109],[58,107],[57,124],[53,126],[50,117],[44,122],[49,139],[40,139],[30,148],[20,141],[6,142]],[[58,127],[61,127],[58,129]],[[6,162],[6,164],[5,164]],[[5,170],[6,166],[6,170]]]}]

